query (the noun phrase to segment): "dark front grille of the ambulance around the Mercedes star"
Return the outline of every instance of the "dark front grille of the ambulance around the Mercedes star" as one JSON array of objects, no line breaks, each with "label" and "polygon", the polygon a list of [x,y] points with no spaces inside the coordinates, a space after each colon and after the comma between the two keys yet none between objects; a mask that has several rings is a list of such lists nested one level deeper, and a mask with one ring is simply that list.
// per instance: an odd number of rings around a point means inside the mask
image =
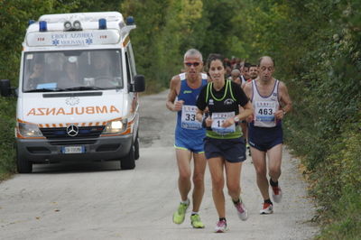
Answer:
[{"label": "dark front grille of the ambulance around the Mercedes star", "polygon": [[67,133],[66,127],[49,127],[41,128],[42,135],[49,140],[65,140],[69,141],[84,138],[97,138],[104,130],[104,125],[97,126],[79,126],[79,132],[75,136],[70,136]]}]

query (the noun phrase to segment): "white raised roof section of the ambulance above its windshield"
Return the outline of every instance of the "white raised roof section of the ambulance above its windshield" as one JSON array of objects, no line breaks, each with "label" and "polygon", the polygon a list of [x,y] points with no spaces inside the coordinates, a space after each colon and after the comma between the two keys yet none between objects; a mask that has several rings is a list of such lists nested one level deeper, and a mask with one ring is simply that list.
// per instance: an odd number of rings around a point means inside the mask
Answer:
[{"label": "white raised roof section of the ambulance above its windshield", "polygon": [[[70,25],[68,29],[64,24],[67,22]],[[77,22],[80,28],[75,28]],[[45,24],[42,26],[42,23]],[[26,50],[27,47],[52,47],[51,50],[55,50],[76,46],[114,46],[119,42],[125,45],[125,37],[134,28],[134,24],[126,25],[123,15],[118,12],[46,14],[29,25],[23,47]]]}]

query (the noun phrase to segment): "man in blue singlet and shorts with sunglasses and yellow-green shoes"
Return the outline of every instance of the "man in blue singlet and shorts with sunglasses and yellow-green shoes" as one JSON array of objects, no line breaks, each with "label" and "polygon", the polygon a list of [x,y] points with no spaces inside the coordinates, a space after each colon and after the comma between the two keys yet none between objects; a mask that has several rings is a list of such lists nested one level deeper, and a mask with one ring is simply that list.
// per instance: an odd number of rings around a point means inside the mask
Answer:
[{"label": "man in blue singlet and shorts with sunglasses and yellow-green shoes", "polygon": [[185,72],[171,78],[170,93],[166,102],[169,110],[177,113],[175,129],[175,149],[179,170],[178,188],[180,190],[180,205],[173,214],[173,222],[181,224],[184,221],[187,208],[190,206],[188,195],[191,189],[191,167],[193,158],[193,194],[190,224],[194,228],[203,228],[199,217],[199,207],[204,194],[204,172],[206,158],[203,150],[205,129],[196,121],[196,100],[200,89],[207,84],[207,75],[202,74],[202,55],[195,49],[190,49],[184,55]]}]

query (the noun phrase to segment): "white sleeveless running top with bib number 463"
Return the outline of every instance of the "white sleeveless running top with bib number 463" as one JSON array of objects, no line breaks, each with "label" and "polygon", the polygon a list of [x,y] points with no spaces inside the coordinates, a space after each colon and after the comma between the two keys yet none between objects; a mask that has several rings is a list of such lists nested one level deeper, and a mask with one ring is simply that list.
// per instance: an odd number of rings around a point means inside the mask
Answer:
[{"label": "white sleeveless running top with bib number 463", "polygon": [[255,126],[274,127],[276,126],[276,118],[274,113],[280,109],[280,101],[278,96],[278,87],[280,81],[275,80],[273,91],[269,96],[261,96],[255,80],[252,80],[252,104],[255,109]]}]

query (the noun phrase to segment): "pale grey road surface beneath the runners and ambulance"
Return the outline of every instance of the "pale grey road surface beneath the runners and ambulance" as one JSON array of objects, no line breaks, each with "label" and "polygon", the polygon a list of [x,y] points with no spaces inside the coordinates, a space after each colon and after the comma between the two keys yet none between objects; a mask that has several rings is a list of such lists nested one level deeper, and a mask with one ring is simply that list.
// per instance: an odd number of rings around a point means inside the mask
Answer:
[{"label": "pale grey road surface beneath the runners and ambulance", "polygon": [[[218,220],[209,172],[200,209],[204,229],[192,229],[190,214],[171,222],[180,200],[174,156],[175,114],[166,110],[166,92],[142,97],[141,158],[134,171],[119,162],[35,165],[0,184],[0,239],[310,239],[314,207],[297,171],[298,160],[283,152],[283,199],[274,214],[259,215],[262,198],[250,158],[242,171],[249,218],[240,221],[227,197],[226,234],[214,234]],[[227,194],[227,191],[225,190]]]}]

